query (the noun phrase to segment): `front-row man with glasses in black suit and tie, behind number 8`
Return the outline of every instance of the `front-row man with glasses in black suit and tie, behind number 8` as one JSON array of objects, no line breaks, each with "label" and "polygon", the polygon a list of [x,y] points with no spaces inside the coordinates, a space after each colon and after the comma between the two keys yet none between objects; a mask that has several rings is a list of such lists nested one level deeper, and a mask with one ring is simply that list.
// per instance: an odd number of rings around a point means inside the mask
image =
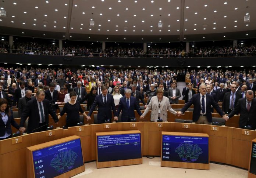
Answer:
[{"label": "front-row man with glasses in black suit and tie, behind number 8", "polygon": [[27,102],[27,106],[21,115],[20,126],[24,127],[27,117],[28,133],[45,131],[49,124],[49,114],[54,122],[58,124],[56,113],[51,109],[50,102],[45,99],[45,91],[39,90],[36,99]]}]

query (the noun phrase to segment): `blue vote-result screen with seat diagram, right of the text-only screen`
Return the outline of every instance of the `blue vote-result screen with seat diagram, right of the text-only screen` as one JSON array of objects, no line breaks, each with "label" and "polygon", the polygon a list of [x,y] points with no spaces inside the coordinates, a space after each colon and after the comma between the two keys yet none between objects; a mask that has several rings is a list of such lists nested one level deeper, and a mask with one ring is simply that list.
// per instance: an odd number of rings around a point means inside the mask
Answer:
[{"label": "blue vote-result screen with seat diagram, right of the text-only screen", "polygon": [[163,135],[162,161],[209,164],[208,137]]}]

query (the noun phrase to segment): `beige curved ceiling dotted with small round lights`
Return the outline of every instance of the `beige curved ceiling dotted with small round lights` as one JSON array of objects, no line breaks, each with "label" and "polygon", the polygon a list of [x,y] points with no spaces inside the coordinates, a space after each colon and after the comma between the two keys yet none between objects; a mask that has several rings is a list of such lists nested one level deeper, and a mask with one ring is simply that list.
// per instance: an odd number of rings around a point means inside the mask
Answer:
[{"label": "beige curved ceiling dotted with small round lights", "polygon": [[2,0],[0,7],[7,12],[0,33],[15,36],[140,42],[256,37],[255,0]]}]

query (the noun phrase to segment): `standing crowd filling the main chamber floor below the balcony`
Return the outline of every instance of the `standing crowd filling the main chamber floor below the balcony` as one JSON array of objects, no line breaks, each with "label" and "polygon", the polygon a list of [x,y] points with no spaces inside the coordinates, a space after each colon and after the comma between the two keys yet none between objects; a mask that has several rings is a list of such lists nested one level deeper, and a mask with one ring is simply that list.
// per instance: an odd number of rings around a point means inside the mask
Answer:
[{"label": "standing crowd filling the main chamber floor below the balcony", "polygon": [[[228,120],[229,117],[240,112],[237,106],[240,102],[239,98],[254,103],[256,91],[255,70],[199,69],[189,71],[181,69],[172,71],[163,69],[159,71],[157,69],[83,68],[71,71],[68,68],[31,67],[30,69],[0,68],[0,71],[0,105],[1,103],[4,105],[3,108],[0,106],[1,112],[4,113],[9,107],[18,107],[21,124],[17,126],[14,120],[11,124],[24,131],[24,122],[29,117],[29,133],[38,127],[41,129],[36,131],[42,131],[42,128],[45,128],[43,126],[49,123],[46,113],[51,114],[54,122],[58,123],[58,119],[66,112],[67,127],[70,127],[79,122],[78,112],[90,120],[92,112],[98,110],[97,123],[104,123],[105,120],[111,119],[111,112],[115,120],[118,120],[118,115],[122,111],[121,120],[131,121],[135,117],[134,110],[137,110],[141,119],[149,110],[154,110],[156,113],[151,115],[151,121],[157,121],[158,119],[167,120],[167,111],[180,116],[192,104],[194,104],[193,112],[195,112],[193,121],[211,124],[213,108],[223,116],[223,119]],[[177,73],[186,81],[190,81],[186,83],[182,92],[177,88]],[[88,94],[86,88],[90,90]],[[144,102],[145,97],[148,99],[147,103]],[[186,105],[177,113],[171,109],[170,104],[178,104],[179,98],[184,99]],[[223,102],[222,110],[218,106],[219,101]],[[139,102],[144,105],[143,109],[146,109],[143,114],[140,111]],[[88,115],[81,109],[81,103],[87,103]],[[57,117],[58,105],[63,104],[63,111]],[[256,112],[256,110],[249,111],[252,114]],[[6,113],[9,112],[6,111]],[[40,120],[31,119],[35,116]],[[201,118],[201,116],[205,117]],[[3,117],[7,122],[9,117],[6,115]],[[256,128],[256,122],[255,119],[248,119],[246,122],[239,122],[239,126]],[[3,129],[2,126],[0,127]],[[3,133],[0,139],[10,137],[10,130]]]}]

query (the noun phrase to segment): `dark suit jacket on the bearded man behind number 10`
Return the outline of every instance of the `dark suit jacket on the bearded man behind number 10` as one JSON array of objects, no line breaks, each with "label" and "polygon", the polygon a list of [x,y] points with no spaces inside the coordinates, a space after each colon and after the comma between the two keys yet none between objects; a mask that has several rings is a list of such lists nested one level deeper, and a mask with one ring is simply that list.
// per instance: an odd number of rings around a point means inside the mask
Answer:
[{"label": "dark suit jacket on the bearded man behind number 10", "polygon": [[115,112],[115,102],[113,95],[107,94],[107,103],[104,104],[102,99],[102,94],[97,95],[95,97],[95,100],[92,104],[92,107],[90,108],[90,112],[88,116],[92,115],[92,112],[94,109],[98,106],[98,113],[97,113],[97,120],[100,121],[99,123],[104,123],[106,119],[112,118],[111,110],[113,110],[114,116],[117,116],[117,113]]}]

